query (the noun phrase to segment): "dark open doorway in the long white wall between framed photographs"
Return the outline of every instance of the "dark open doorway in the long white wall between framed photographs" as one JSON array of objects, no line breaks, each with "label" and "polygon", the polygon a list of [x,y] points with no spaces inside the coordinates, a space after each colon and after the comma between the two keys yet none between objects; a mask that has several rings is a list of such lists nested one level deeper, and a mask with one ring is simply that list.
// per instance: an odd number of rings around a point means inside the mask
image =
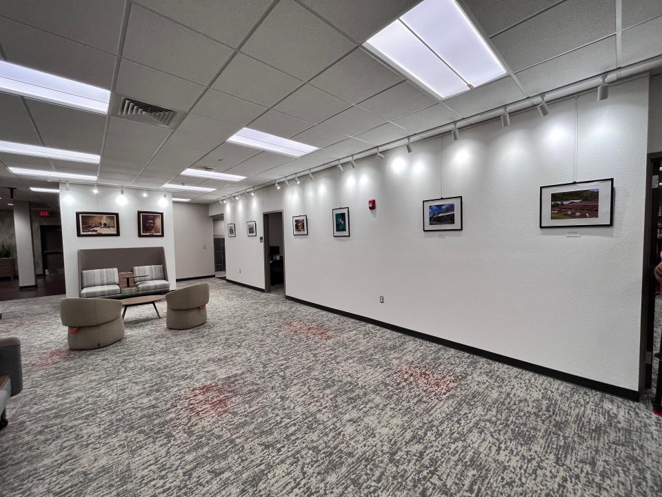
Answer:
[{"label": "dark open doorway in the long white wall between framed photographs", "polygon": [[263,214],[264,291],[285,296],[285,236],[283,211]]}]

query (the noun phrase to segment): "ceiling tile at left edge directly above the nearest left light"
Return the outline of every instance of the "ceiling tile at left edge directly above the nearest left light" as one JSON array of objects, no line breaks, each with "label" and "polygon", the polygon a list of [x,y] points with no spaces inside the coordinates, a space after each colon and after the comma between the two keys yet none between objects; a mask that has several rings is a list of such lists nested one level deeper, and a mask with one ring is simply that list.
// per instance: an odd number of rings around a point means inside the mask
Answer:
[{"label": "ceiling tile at left edge directly above the nearest left light", "polygon": [[114,55],[0,17],[7,61],[110,89]]}]

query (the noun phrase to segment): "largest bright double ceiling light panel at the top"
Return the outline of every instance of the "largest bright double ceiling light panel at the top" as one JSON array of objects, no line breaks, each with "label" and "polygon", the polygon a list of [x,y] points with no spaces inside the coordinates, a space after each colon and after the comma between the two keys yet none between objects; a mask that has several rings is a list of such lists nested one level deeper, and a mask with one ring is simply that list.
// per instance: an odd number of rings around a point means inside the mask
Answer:
[{"label": "largest bright double ceiling light panel at the top", "polygon": [[454,0],[423,0],[364,46],[441,99],[505,75]]}]

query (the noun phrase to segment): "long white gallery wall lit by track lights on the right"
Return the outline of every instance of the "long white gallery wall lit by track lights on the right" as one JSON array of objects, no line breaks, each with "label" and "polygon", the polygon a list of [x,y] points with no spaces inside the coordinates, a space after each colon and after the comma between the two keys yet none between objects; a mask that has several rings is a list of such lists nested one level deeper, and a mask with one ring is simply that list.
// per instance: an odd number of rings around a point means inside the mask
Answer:
[{"label": "long white gallery wall lit by track lights on the right", "polygon": [[[228,279],[264,287],[261,212],[282,208],[288,295],[637,390],[648,79],[576,103],[577,119],[570,99],[210,206],[237,224]],[[577,181],[614,177],[614,226],[566,237],[539,228],[539,188],[575,179],[575,151]],[[441,195],[463,196],[463,231],[422,231],[422,200]],[[332,237],[340,206],[348,238]],[[301,214],[310,235],[294,237]]]}]

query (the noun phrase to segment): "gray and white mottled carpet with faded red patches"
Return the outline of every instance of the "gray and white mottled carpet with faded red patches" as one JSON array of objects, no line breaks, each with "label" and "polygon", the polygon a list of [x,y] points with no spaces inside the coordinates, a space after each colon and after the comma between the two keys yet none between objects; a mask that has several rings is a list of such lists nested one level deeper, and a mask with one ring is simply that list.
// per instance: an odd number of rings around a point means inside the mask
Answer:
[{"label": "gray and white mottled carpet with faded red patches", "polygon": [[208,281],[205,326],[134,307],[96,351],[68,351],[59,298],[3,302],[25,373],[3,497],[662,492],[648,402]]}]

